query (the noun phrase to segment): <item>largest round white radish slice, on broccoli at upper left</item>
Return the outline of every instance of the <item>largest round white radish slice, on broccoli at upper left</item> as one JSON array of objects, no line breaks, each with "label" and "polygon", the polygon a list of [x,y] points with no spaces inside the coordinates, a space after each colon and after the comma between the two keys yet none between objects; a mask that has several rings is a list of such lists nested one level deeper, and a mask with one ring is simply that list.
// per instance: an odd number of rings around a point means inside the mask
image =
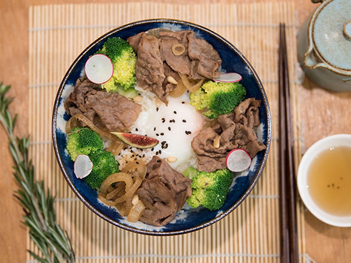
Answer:
[{"label": "largest round white radish slice, on broccoli at upper left", "polygon": [[103,54],[92,55],[85,63],[85,75],[96,84],[102,84],[111,79],[113,65],[108,56]]}]

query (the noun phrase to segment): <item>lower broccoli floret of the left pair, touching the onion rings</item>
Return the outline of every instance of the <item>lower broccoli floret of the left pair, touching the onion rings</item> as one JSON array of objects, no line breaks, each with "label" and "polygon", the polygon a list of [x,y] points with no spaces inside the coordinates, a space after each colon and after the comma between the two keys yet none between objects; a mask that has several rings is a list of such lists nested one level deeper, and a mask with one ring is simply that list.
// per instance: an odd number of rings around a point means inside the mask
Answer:
[{"label": "lower broccoli floret of the left pair, touching the onion rings", "polygon": [[114,159],[112,153],[105,150],[93,151],[88,156],[93,163],[93,169],[91,173],[85,177],[85,181],[91,188],[99,190],[101,183],[107,176],[119,172],[118,162]]}]

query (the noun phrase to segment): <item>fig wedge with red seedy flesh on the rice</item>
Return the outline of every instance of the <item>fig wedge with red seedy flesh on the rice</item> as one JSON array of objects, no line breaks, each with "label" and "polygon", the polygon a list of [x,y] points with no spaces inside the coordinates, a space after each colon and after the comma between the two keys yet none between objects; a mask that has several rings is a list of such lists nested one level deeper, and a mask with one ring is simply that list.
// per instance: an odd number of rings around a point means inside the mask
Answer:
[{"label": "fig wedge with red seedy flesh on the rice", "polygon": [[140,134],[118,133],[115,131],[112,131],[111,133],[117,136],[117,138],[120,139],[125,144],[128,144],[129,146],[139,148],[139,149],[152,148],[159,143],[159,140],[157,139],[140,135]]}]

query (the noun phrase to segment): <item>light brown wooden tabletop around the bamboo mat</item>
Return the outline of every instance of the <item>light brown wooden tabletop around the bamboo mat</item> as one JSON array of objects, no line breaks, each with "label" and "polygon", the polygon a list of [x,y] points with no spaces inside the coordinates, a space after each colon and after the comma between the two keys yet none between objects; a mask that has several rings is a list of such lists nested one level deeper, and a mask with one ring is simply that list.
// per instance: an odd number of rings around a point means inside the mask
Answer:
[{"label": "light brown wooden tabletop around the bamboo mat", "polygon": [[[119,0],[121,1],[121,0]],[[160,2],[204,2],[201,0],[159,0]],[[214,0],[207,2],[254,2],[258,0]],[[282,1],[282,0],[272,0]],[[294,0],[298,11],[299,24],[317,7],[310,0]],[[11,84],[10,94],[15,96],[11,111],[19,114],[16,133],[27,134],[28,122],[28,7],[30,5],[84,3],[84,0],[1,0],[0,1],[0,50],[3,62],[0,64],[0,81]],[[101,2],[90,0],[88,2]],[[116,1],[113,1],[116,2]],[[305,148],[325,136],[350,133],[351,92],[329,93],[318,88],[308,79],[300,90],[303,137]],[[0,128],[0,255],[2,262],[25,262],[26,230],[20,224],[23,214],[13,197],[17,187],[12,176],[12,159]],[[324,224],[308,211],[305,213],[305,234],[307,253],[316,262],[351,262],[351,228],[338,228]],[[4,260],[5,259],[5,260]]]}]

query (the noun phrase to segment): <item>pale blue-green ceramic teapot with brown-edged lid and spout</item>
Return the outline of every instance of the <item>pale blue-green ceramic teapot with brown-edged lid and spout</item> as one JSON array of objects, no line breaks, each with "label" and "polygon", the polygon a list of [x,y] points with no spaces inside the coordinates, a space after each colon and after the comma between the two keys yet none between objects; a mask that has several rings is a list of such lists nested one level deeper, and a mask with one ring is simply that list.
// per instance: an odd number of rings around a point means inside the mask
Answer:
[{"label": "pale blue-green ceramic teapot with brown-edged lid and spout", "polygon": [[351,0],[322,2],[297,36],[300,65],[317,85],[351,90]]}]

